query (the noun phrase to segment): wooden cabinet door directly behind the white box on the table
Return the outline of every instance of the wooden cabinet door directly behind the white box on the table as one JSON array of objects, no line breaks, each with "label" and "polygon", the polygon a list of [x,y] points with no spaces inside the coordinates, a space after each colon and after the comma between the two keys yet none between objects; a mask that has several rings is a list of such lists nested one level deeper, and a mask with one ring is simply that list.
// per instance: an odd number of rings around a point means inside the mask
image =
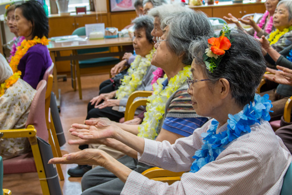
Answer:
[{"label": "wooden cabinet door directly behind the white box on the table", "polygon": [[[96,20],[97,18],[97,20]],[[84,17],[76,17],[75,18],[75,27],[83,27],[85,24],[94,24],[94,23],[105,23],[105,27],[108,27],[108,18],[107,16],[100,16],[100,15],[91,15],[91,16],[84,16]]]}]

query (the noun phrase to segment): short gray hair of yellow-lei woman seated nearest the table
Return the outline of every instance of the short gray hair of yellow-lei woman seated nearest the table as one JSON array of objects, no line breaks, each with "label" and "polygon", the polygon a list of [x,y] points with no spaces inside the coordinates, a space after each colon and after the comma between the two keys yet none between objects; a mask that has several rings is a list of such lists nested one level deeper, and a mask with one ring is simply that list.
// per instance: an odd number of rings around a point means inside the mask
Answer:
[{"label": "short gray hair of yellow-lei woman seated nearest the table", "polygon": [[154,24],[153,24],[153,17],[152,16],[139,16],[137,18],[135,18],[132,23],[134,24],[134,29],[145,29],[146,32],[146,38],[147,40],[152,43],[153,42],[153,37],[151,36],[151,31],[154,28]]}]

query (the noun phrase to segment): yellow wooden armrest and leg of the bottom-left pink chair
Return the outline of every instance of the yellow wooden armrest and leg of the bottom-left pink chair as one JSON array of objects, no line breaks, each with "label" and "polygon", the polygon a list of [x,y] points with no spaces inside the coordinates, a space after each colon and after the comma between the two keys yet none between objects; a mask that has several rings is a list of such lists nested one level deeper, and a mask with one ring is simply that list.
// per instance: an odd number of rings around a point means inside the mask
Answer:
[{"label": "yellow wooden armrest and leg of the bottom-left pink chair", "polygon": [[34,155],[42,193],[43,195],[50,195],[48,182],[46,180],[45,169],[41,160],[39,147],[37,144],[37,130],[35,129],[35,127],[33,125],[28,125],[27,129],[0,130],[0,137],[1,138],[28,137]]}]

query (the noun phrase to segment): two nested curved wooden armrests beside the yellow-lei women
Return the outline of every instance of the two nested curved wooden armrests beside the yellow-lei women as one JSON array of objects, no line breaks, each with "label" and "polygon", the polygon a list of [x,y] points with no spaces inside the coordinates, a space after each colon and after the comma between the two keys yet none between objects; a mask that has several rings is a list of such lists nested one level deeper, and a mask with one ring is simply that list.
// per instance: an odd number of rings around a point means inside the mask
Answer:
[{"label": "two nested curved wooden armrests beside the yellow-lei women", "polygon": [[125,121],[134,118],[135,111],[139,106],[146,106],[146,98],[137,99],[135,101],[134,99],[138,97],[148,97],[151,96],[152,93],[153,91],[135,91],[129,96],[125,111]]}]

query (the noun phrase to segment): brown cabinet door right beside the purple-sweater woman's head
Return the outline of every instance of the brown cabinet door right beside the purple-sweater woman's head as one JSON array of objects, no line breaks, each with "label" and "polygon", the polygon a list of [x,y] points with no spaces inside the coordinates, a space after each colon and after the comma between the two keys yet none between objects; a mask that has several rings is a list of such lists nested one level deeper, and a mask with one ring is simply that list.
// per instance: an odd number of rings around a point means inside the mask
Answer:
[{"label": "brown cabinet door right beside the purple-sweater woman's head", "polygon": [[75,30],[74,18],[49,18],[49,37],[71,35]]}]

